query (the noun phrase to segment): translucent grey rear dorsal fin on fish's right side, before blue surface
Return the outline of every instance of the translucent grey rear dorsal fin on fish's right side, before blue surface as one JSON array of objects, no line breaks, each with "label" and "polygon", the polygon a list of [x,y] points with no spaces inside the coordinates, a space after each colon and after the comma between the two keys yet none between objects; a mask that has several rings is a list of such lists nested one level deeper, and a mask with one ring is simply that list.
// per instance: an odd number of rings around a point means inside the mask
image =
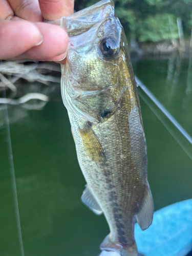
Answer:
[{"label": "translucent grey rear dorsal fin on fish's right side, before blue surface", "polygon": [[138,214],[136,215],[136,220],[142,230],[147,229],[152,224],[153,214],[154,214],[153,198],[152,198],[150,186],[148,185],[148,181],[146,181],[143,203],[141,205],[141,208],[139,209]]}]

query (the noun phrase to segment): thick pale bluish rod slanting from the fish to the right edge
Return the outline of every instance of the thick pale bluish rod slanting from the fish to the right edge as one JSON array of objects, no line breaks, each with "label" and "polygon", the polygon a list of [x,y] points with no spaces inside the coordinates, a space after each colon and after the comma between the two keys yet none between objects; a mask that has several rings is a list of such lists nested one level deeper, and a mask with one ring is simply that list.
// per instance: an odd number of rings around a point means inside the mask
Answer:
[{"label": "thick pale bluish rod slanting from the fish to the right edge", "polygon": [[192,138],[183,129],[183,127],[178,123],[178,121],[164,108],[164,106],[159,102],[159,100],[144,86],[144,84],[135,76],[136,83],[138,86],[146,93],[148,97],[158,106],[158,108],[163,112],[163,114],[175,125],[175,127],[180,131],[180,133],[192,144]]}]

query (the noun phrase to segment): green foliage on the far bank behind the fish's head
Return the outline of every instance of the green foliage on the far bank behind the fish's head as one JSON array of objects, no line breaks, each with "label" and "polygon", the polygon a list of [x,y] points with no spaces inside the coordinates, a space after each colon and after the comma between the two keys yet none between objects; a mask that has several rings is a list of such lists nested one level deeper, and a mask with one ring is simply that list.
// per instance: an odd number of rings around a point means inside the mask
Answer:
[{"label": "green foliage on the far bank behind the fish's head", "polygon": [[[97,0],[75,0],[75,10],[97,3]],[[192,29],[192,0],[114,0],[116,15],[127,38],[160,41],[178,38],[177,17],[185,35]]]}]

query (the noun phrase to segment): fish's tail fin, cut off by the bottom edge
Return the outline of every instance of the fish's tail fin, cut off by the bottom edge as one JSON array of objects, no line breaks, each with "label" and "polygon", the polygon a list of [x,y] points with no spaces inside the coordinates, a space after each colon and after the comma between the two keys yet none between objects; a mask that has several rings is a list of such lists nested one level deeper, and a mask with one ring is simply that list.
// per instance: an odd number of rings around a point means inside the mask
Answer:
[{"label": "fish's tail fin, cut off by the bottom edge", "polygon": [[135,241],[132,246],[124,248],[120,244],[111,242],[109,236],[104,239],[100,245],[100,249],[103,250],[100,256],[138,256],[137,245]]}]

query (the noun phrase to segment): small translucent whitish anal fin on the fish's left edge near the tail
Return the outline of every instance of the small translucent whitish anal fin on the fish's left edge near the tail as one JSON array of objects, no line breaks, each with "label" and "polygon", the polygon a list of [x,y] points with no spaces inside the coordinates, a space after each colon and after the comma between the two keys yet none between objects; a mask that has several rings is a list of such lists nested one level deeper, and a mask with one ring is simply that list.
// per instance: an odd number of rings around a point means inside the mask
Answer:
[{"label": "small translucent whitish anal fin on the fish's left edge near the tail", "polygon": [[86,189],[84,189],[82,196],[81,196],[81,201],[83,204],[87,205],[90,210],[94,212],[96,215],[101,215],[102,214],[102,209],[97,203],[95,197],[91,193],[90,189],[88,188],[88,185],[86,185]]}]

